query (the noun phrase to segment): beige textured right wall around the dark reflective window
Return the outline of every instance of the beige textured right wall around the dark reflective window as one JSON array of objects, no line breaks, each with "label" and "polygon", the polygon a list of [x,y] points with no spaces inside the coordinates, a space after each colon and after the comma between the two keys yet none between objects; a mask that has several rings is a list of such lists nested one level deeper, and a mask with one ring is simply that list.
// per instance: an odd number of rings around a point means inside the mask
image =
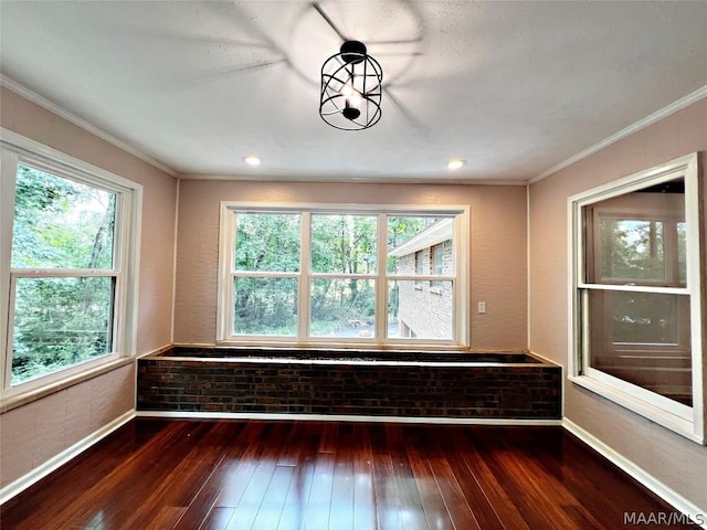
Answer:
[{"label": "beige textured right wall around the dark reflective window", "polygon": [[[532,351],[567,365],[568,197],[700,150],[707,150],[707,99],[530,187]],[[701,177],[704,184],[704,163]],[[570,382],[566,383],[564,414],[707,511],[707,447]]]}]

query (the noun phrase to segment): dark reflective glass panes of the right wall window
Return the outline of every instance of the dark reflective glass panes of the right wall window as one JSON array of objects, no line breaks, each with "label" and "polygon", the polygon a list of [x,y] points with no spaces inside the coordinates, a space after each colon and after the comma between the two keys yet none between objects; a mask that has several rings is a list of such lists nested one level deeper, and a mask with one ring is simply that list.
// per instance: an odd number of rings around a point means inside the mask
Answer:
[{"label": "dark reflective glass panes of the right wall window", "polygon": [[595,202],[584,218],[590,365],[692,405],[685,179]]}]

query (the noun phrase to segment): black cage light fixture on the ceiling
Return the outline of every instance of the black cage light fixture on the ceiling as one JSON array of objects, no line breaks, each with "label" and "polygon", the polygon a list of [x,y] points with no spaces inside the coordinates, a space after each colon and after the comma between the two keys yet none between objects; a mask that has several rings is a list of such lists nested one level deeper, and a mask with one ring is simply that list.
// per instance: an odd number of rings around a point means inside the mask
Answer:
[{"label": "black cage light fixture on the ceiling", "polygon": [[383,71],[366,44],[346,41],[339,53],[321,65],[319,115],[331,127],[368,129],[381,116]]}]

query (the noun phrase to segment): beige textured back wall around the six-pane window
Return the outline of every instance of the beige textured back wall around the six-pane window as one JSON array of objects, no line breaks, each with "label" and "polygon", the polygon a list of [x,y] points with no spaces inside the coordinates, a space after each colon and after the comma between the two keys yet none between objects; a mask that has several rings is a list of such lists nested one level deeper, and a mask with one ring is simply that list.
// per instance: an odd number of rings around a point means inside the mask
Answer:
[{"label": "beige textured back wall around the six-pane window", "polygon": [[339,184],[184,180],[177,243],[175,342],[212,344],[221,201],[468,204],[474,348],[526,348],[526,189],[509,186]]}]

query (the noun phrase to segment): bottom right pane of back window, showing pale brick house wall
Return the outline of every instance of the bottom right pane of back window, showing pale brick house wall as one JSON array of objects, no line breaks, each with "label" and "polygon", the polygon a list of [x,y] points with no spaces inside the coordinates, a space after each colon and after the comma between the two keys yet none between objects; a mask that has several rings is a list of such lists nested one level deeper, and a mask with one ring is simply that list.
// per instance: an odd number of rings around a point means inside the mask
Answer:
[{"label": "bottom right pane of back window, showing pale brick house wall", "polygon": [[390,338],[453,338],[452,282],[391,282],[388,297]]}]

